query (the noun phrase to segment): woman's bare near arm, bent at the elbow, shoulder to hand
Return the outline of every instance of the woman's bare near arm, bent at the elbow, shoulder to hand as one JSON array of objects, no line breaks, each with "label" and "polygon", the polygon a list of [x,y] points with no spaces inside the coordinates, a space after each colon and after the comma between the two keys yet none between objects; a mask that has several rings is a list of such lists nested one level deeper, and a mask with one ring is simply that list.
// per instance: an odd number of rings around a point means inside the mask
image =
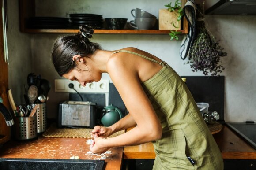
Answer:
[{"label": "woman's bare near arm, bent at the elbow, shoulder to hand", "polygon": [[[94,146],[90,147],[92,152],[101,152],[104,148],[143,144],[162,136],[161,123],[139,81],[139,65],[131,59],[120,62],[120,59],[115,57],[111,60],[108,73],[137,126],[117,137],[95,138]],[[119,124],[117,127],[122,126]]]}]

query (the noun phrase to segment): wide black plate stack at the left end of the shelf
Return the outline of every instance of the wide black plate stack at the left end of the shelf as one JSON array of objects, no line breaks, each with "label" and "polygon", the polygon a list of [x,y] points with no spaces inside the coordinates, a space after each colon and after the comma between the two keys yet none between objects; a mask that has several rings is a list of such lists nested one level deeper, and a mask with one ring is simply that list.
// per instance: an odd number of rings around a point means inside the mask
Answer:
[{"label": "wide black plate stack at the left end of the shelf", "polygon": [[34,29],[68,29],[69,20],[61,17],[30,17],[28,26]]}]

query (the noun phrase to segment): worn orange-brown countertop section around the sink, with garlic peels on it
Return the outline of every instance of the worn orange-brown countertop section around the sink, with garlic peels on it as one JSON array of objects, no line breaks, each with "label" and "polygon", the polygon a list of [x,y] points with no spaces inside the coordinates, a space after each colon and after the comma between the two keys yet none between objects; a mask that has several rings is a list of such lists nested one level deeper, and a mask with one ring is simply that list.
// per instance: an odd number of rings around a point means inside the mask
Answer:
[{"label": "worn orange-brown countertop section around the sink, with garlic peels on it", "polygon": [[[0,158],[29,158],[29,159],[94,159],[96,156],[85,155],[89,151],[86,138],[53,138],[38,137],[33,141],[11,140],[0,148]],[[112,154],[107,154],[105,170],[120,170],[123,147],[111,148]],[[97,156],[97,158],[99,158]]]}]

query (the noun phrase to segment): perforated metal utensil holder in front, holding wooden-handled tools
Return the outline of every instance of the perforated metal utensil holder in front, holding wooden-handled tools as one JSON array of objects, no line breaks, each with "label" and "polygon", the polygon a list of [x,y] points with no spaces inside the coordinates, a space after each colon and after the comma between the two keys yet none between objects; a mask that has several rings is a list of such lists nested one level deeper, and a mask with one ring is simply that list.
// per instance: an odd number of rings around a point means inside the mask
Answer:
[{"label": "perforated metal utensil holder in front, holding wooden-handled tools", "polygon": [[15,138],[28,140],[37,137],[37,120],[33,117],[15,117]]}]

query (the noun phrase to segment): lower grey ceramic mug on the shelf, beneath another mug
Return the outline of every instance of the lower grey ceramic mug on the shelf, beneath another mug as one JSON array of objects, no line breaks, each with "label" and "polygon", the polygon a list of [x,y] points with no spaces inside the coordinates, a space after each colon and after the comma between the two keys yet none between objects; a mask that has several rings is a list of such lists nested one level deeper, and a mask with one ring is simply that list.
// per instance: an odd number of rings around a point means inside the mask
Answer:
[{"label": "lower grey ceramic mug on the shelf, beneath another mug", "polygon": [[156,18],[135,18],[129,24],[138,30],[150,30],[155,25]]}]

